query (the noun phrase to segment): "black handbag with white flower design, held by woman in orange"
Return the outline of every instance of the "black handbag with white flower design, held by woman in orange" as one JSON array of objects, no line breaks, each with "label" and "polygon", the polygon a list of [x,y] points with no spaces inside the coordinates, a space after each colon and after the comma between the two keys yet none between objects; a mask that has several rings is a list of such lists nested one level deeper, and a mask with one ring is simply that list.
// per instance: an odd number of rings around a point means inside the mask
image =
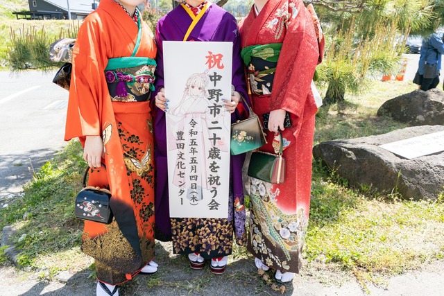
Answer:
[{"label": "black handbag with white flower design, held by woman in orange", "polygon": [[110,224],[113,217],[110,207],[111,192],[100,187],[86,186],[88,172],[89,168],[83,175],[83,189],[76,196],[76,218]]}]

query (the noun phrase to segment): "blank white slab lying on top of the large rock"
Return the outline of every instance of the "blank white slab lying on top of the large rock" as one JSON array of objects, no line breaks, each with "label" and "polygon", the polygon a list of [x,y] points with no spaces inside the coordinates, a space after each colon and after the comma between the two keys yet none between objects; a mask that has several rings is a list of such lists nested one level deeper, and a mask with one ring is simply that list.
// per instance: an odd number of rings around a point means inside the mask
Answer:
[{"label": "blank white slab lying on top of the large rock", "polygon": [[407,159],[444,151],[444,132],[395,141],[379,146]]}]

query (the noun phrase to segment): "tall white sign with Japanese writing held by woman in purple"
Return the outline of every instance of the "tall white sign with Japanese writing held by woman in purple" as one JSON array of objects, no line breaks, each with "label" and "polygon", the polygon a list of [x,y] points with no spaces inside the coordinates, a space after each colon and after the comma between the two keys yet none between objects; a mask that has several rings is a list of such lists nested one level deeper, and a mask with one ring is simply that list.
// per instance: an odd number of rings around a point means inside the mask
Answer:
[{"label": "tall white sign with Japanese writing held by woman in purple", "polygon": [[163,47],[170,216],[228,218],[232,43]]}]

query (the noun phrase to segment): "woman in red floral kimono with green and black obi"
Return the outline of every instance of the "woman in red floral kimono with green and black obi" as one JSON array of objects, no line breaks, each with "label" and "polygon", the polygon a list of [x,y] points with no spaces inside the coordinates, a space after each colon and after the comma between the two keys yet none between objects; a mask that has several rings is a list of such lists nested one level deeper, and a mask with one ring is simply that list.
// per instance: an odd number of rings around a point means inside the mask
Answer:
[{"label": "woman in red floral kimono with green and black obi", "polygon": [[[247,248],[257,268],[277,270],[280,282],[299,272],[307,232],[317,111],[310,85],[323,51],[318,21],[315,26],[302,0],[255,0],[239,24],[253,110],[259,118],[269,113],[268,143],[259,150],[278,153],[280,130],[287,162],[284,183],[251,180]],[[284,125],[287,113],[290,126]]]}]

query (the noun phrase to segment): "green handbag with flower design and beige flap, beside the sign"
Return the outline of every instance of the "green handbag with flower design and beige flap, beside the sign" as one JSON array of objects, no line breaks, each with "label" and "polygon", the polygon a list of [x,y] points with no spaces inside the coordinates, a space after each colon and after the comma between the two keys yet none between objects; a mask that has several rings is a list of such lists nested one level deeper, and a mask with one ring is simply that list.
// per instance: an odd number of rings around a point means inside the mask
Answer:
[{"label": "green handbag with flower design and beige flap, beside the sign", "polygon": [[265,145],[265,134],[262,130],[262,124],[257,114],[251,110],[250,117],[242,121],[237,121],[231,125],[231,155],[238,155],[255,150]]}]

